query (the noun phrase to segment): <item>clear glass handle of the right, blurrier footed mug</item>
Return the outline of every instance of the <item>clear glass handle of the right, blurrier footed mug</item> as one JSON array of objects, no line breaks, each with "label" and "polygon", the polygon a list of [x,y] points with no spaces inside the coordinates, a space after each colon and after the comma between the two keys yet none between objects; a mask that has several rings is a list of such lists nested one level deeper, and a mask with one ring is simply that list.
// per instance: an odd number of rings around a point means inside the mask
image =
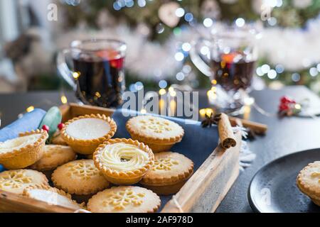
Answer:
[{"label": "clear glass handle of the right, blurrier footed mug", "polygon": [[[213,72],[208,66],[208,64],[200,57],[199,46],[202,44],[202,47],[208,48],[208,55],[210,55],[211,44],[209,40],[203,38],[198,39],[196,42],[193,42],[192,48],[190,50],[190,58],[200,72],[205,74],[207,77],[213,78]],[[203,45],[204,44],[204,45]]]}]

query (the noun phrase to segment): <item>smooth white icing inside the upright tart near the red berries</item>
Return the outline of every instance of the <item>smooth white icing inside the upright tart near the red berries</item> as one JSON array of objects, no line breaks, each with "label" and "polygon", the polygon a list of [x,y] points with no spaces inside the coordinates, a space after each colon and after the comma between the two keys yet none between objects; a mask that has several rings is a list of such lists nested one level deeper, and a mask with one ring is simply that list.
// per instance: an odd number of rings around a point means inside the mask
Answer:
[{"label": "smooth white icing inside the upright tart near the red berries", "polygon": [[110,124],[99,118],[82,118],[73,121],[65,132],[75,139],[93,140],[102,138],[110,131]]}]

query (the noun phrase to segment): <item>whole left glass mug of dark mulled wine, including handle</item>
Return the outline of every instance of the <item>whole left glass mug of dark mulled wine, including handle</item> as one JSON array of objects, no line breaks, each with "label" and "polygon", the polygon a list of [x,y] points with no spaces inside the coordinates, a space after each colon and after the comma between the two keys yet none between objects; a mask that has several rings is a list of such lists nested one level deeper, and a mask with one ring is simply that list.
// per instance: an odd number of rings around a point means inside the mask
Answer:
[{"label": "whole left glass mug of dark mulled wine, including handle", "polygon": [[117,107],[125,89],[126,50],[119,40],[75,40],[58,53],[58,71],[83,104]]}]

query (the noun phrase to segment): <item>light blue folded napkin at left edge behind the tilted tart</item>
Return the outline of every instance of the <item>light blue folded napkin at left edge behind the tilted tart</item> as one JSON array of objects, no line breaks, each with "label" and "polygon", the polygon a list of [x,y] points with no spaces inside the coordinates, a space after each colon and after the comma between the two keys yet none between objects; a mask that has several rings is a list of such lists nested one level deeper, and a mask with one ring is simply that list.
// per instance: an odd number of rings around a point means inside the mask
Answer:
[{"label": "light blue folded napkin at left edge behind the tilted tart", "polygon": [[19,133],[36,130],[45,114],[46,111],[43,109],[34,109],[30,113],[23,114],[22,118],[0,130],[0,142],[16,138]]}]

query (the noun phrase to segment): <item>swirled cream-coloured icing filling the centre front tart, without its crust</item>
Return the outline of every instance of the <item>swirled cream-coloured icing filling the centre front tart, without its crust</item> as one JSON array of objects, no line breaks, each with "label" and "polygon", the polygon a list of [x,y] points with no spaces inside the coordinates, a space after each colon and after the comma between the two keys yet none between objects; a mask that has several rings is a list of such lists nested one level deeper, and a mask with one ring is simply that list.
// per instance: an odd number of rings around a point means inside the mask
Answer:
[{"label": "swirled cream-coloured icing filling the centre front tart, without its crust", "polygon": [[149,162],[149,155],[135,145],[114,143],[105,146],[99,159],[112,170],[127,172],[144,167]]}]

